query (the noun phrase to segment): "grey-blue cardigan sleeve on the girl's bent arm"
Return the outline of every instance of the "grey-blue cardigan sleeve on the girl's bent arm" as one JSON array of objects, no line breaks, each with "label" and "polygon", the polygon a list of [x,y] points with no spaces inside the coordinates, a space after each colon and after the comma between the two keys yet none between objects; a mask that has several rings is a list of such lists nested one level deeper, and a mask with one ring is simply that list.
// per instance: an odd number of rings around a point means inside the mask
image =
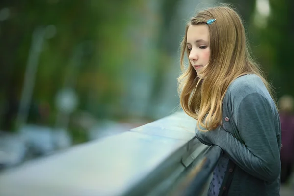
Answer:
[{"label": "grey-blue cardigan sleeve on the girl's bent arm", "polygon": [[221,126],[208,132],[196,131],[196,137],[221,147],[245,172],[272,182],[278,178],[281,164],[270,103],[259,93],[251,93],[237,107],[234,121],[244,143]]}]

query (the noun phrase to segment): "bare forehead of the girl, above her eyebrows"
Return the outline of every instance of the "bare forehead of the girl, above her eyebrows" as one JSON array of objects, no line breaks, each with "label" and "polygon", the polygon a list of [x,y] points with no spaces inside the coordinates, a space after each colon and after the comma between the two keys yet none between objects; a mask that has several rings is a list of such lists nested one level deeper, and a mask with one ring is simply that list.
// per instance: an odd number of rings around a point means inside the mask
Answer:
[{"label": "bare forehead of the girl, above her eyebrows", "polygon": [[190,25],[187,31],[187,43],[193,43],[196,40],[209,41],[209,30],[205,24]]}]

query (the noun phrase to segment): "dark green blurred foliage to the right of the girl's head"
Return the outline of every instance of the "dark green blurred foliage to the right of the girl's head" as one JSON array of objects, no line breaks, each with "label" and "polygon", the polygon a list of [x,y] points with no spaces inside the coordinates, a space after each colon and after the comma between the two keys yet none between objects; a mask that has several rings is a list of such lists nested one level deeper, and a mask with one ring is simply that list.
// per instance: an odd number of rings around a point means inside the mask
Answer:
[{"label": "dark green blurred foliage to the right of the girl's head", "polygon": [[256,46],[260,44],[260,47],[254,48],[254,53],[259,62],[268,68],[278,97],[283,94],[294,96],[294,66],[291,59],[294,54],[294,1],[269,1],[271,13],[266,26],[252,29]]}]

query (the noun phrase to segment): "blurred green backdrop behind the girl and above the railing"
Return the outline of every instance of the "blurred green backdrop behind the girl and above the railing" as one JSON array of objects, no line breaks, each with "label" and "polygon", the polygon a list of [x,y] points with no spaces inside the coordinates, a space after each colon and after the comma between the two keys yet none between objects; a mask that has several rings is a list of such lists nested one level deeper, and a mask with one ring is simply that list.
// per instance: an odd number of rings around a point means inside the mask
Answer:
[{"label": "blurred green backdrop behind the girl and above the railing", "polygon": [[[294,95],[294,1],[224,0],[276,97]],[[1,0],[0,165],[118,134],[178,109],[179,43],[215,0]]]}]

